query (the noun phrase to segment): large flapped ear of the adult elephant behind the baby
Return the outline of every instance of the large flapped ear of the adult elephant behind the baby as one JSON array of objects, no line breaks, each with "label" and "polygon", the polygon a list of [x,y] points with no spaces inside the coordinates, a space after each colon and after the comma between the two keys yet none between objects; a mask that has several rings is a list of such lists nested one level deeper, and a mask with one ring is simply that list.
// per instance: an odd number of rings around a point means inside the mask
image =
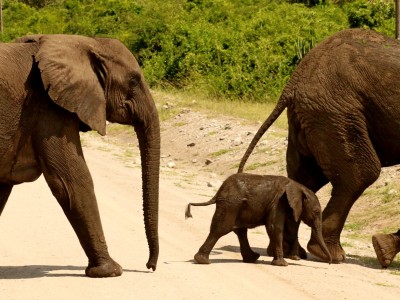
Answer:
[{"label": "large flapped ear of the adult elephant behind the baby", "polygon": [[104,60],[96,41],[83,36],[43,35],[35,55],[44,89],[57,105],[76,113],[101,135],[106,134]]}]

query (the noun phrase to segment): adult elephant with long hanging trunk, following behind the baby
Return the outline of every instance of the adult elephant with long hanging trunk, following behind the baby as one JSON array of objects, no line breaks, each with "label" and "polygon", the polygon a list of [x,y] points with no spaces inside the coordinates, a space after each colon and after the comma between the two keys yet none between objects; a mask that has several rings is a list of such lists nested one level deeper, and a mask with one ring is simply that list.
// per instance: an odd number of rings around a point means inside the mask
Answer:
[{"label": "adult elephant with long hanging trunk, following behind the baby", "polygon": [[132,53],[118,40],[34,35],[0,44],[0,214],[14,185],[42,173],[89,259],[86,275],[122,268],[109,255],[80,131],[106,134],[106,120],[132,125],[142,160],[143,209],[156,269],[160,129]]}]

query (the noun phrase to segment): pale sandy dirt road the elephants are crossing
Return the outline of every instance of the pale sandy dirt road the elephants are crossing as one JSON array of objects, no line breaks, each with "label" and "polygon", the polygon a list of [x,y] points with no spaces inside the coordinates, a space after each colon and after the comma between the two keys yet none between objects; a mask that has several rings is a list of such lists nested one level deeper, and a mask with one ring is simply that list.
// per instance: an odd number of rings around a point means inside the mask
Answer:
[{"label": "pale sandy dirt road the elephants are crossing", "polygon": [[[109,250],[124,274],[84,276],[83,250],[41,177],[16,186],[0,218],[0,299],[398,299],[400,278],[393,269],[363,266],[356,256],[339,265],[289,260],[288,267],[271,266],[263,228],[249,234],[262,253],[258,263],[241,262],[232,233],[216,245],[211,265],[194,264],[214,207],[194,207],[194,218],[185,220],[185,205],[208,199],[214,189],[182,186],[171,172],[163,173],[160,186],[158,268],[148,271],[139,167],[96,143],[85,156]],[[302,226],[303,246],[309,234]]]}]

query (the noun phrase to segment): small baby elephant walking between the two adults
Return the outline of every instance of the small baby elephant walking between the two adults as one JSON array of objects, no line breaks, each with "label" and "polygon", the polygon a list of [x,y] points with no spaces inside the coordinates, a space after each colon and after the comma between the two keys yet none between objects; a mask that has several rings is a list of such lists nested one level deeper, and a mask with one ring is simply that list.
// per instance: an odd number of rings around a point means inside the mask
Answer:
[{"label": "small baby elephant walking between the two adults", "polygon": [[244,262],[255,262],[260,255],[251,250],[247,228],[265,225],[274,259],[272,265],[287,266],[283,258],[285,224],[302,220],[312,228],[312,235],[329,258],[322,237],[321,205],[317,196],[305,186],[283,176],[238,173],[228,177],[208,202],[189,203],[186,218],[192,217],[190,206],[216,203],[210,234],[194,256],[197,263],[209,264],[209,254],[220,237],[232,230],[237,234]]}]

